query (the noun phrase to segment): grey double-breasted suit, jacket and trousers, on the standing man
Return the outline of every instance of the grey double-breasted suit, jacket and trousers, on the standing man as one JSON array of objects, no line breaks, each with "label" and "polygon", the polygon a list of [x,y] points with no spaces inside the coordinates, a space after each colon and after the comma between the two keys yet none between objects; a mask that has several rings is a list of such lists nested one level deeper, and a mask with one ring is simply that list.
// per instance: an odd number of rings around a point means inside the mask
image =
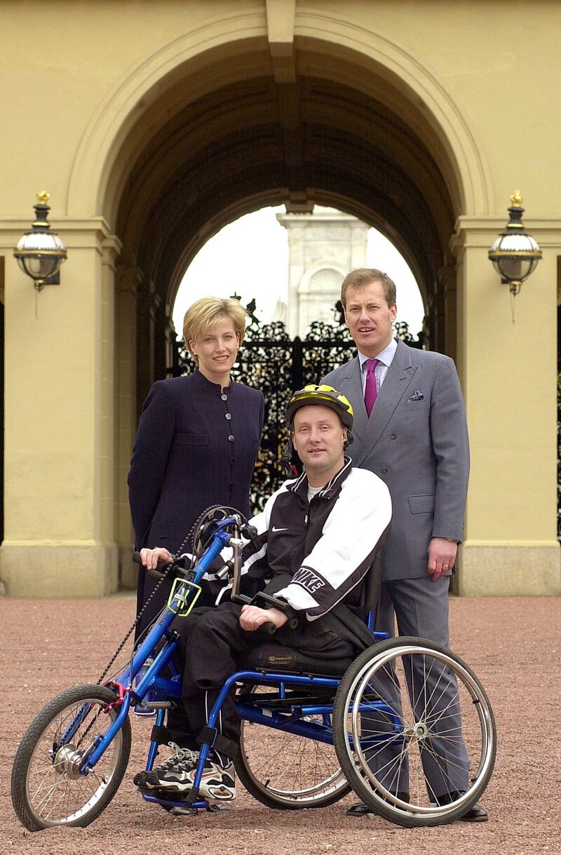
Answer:
[{"label": "grey double-breasted suit, jacket and trousers, on the standing man", "polygon": [[[449,580],[441,576],[432,581],[427,550],[434,537],[462,540],[469,441],[454,363],[440,353],[418,351],[398,341],[369,418],[358,357],[322,381],[343,392],[352,404],[354,441],[347,453],[353,465],[378,475],[392,497],[392,528],[382,551],[375,626],[394,634],[397,617],[400,635],[421,636],[448,646]],[[422,758],[432,799],[450,789],[464,792],[469,782],[456,683],[446,669],[438,667],[433,679],[440,681],[440,688],[446,684],[442,693],[448,710],[446,734],[460,736],[450,740],[444,734],[444,739],[434,741],[431,759]],[[420,679],[418,684],[422,683]],[[393,684],[387,691],[393,697]],[[393,700],[399,704],[397,696]],[[378,753],[377,774],[387,779],[387,787],[393,791],[407,792],[407,764],[398,764],[394,751],[387,746]],[[398,766],[396,780],[390,770]]]}]

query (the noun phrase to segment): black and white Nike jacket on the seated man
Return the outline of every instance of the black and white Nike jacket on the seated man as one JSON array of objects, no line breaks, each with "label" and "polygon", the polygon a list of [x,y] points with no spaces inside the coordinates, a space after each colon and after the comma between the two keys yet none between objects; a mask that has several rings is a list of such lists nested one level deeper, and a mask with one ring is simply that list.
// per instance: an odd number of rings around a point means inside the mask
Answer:
[{"label": "black and white Nike jacket on the seated man", "polygon": [[366,469],[351,469],[348,457],[310,501],[304,472],[285,481],[252,517],[257,538],[244,547],[242,586],[290,574],[292,581],[275,597],[304,611],[308,620],[343,599],[363,618],[362,583],[391,516],[387,486]]}]

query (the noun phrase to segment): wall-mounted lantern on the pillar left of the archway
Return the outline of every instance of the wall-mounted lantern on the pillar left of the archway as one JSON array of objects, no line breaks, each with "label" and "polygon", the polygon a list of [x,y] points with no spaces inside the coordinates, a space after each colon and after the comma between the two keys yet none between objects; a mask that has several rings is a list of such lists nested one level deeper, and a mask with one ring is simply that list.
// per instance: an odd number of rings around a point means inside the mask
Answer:
[{"label": "wall-mounted lantern on the pillar left of the archway", "polygon": [[32,230],[18,240],[14,250],[18,264],[31,277],[37,291],[42,291],[45,285],[60,283],[58,271],[66,260],[66,247],[58,235],[50,231],[47,221],[49,198],[49,193],[44,190],[37,194]]}]

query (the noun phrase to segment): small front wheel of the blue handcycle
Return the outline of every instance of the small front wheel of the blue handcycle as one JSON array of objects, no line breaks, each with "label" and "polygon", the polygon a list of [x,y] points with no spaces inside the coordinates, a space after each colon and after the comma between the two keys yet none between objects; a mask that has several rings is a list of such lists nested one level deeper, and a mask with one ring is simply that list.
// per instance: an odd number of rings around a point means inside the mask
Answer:
[{"label": "small front wheel of the blue handcycle", "polygon": [[[116,695],[103,686],[74,686],[53,698],[38,713],[21,740],[12,769],[12,803],[21,823],[30,831],[92,823],[115,795],[127,769],[131,751],[128,718],[97,765],[80,775],[80,758],[97,735],[117,716],[103,713]],[[57,740],[76,716],[82,720],[65,745]]]}]

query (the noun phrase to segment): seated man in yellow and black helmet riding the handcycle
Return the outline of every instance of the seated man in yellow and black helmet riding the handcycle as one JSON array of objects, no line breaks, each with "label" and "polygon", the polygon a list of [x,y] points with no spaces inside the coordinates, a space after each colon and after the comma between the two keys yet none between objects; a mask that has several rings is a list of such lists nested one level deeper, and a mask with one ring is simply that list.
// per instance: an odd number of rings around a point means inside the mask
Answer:
[{"label": "seated man in yellow and black helmet riding the handcycle", "polygon": [[[304,471],[251,520],[257,536],[245,545],[241,567],[242,584],[269,580],[264,593],[274,599],[267,608],[240,605],[222,589],[216,607],[194,609],[174,622],[184,659],[183,709],[174,716],[173,734],[168,723],[172,755],[134,778],[145,792],[186,798],[211,706],[227,678],[270,643],[265,624],[269,632],[274,625],[275,645],[286,649],[285,667],[302,656],[322,670],[326,663],[348,663],[363,649],[366,581],[392,512],[387,486],[372,472],[351,469],[344,451],[351,442],[352,408],[331,386],[295,392],[286,419]],[[161,547],[140,555],[148,570],[172,559]],[[199,787],[204,799],[235,798],[239,728],[233,699],[227,698]]]}]

